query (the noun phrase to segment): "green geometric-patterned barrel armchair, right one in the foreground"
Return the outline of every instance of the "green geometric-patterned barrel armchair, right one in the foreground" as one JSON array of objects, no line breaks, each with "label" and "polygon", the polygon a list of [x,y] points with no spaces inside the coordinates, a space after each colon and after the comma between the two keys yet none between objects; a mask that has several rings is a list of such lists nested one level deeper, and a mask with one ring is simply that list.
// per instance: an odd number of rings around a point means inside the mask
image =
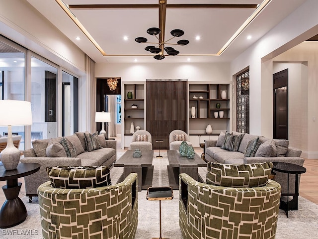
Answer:
[{"label": "green geometric-patterned barrel armchair, right one in the foreground", "polygon": [[274,239],[281,187],[227,188],[179,175],[179,225],[184,239]]}]

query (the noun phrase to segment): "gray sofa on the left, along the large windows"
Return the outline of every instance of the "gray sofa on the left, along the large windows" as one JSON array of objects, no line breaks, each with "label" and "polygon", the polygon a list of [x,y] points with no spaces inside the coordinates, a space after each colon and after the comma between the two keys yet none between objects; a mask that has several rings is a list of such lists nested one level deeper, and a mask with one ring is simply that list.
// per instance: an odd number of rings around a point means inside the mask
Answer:
[{"label": "gray sofa on the left, along the large windows", "polygon": [[[88,133],[87,131],[85,133]],[[89,134],[89,133],[88,133]],[[87,134],[86,134],[87,136]],[[22,163],[39,163],[40,170],[32,175],[24,177],[26,195],[30,198],[37,196],[37,189],[49,177],[46,172],[48,166],[108,166],[110,167],[116,161],[116,140],[106,140],[103,134],[97,135],[98,144],[94,145],[94,149],[89,146],[87,149],[87,140],[84,132],[76,132],[65,138],[72,142],[76,153],[73,152],[72,157],[67,156],[65,150],[57,150],[61,148],[61,140],[63,137],[41,139],[32,142],[33,148],[23,151],[24,158]],[[99,148],[101,147],[101,148]],[[52,148],[54,152],[52,152]],[[91,151],[90,151],[91,150]],[[63,151],[63,152],[62,152]],[[74,157],[75,156],[75,157]]]}]

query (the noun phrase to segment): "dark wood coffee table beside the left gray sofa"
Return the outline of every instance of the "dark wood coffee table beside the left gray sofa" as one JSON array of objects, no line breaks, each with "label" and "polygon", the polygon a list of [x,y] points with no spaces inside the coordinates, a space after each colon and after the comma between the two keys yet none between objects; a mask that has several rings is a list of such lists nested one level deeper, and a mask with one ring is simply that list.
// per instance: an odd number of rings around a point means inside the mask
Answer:
[{"label": "dark wood coffee table beside the left gray sofa", "polygon": [[133,157],[134,150],[127,150],[115,163],[114,167],[124,167],[124,173],[117,183],[122,182],[130,173],[138,174],[138,191],[153,186],[154,150],[142,151],[141,157]]}]

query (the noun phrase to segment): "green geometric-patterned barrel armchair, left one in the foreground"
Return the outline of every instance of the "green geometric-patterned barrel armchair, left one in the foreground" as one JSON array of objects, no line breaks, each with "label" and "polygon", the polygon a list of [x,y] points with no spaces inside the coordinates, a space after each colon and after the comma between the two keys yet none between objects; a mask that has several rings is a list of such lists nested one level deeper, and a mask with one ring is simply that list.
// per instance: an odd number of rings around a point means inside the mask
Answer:
[{"label": "green geometric-patterned barrel armchair, left one in the foreground", "polygon": [[134,239],[138,224],[137,173],[111,186],[38,188],[44,239]]}]

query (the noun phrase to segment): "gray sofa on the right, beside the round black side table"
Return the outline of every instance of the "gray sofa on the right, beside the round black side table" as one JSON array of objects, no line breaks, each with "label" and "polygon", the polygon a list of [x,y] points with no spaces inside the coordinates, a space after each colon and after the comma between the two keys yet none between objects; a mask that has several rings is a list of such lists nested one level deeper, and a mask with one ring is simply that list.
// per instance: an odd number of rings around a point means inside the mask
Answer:
[{"label": "gray sofa on the right, beside the round black side table", "polygon": [[[239,132],[233,131],[233,135],[239,135]],[[253,157],[245,157],[245,150],[248,142],[259,138],[261,142]],[[245,133],[240,141],[237,151],[223,149],[225,141],[225,132],[221,132],[218,140],[205,140],[205,160],[225,164],[247,164],[262,162],[288,162],[303,166],[304,158],[300,155],[302,150],[289,147],[289,141],[285,139],[270,139],[259,135]],[[265,143],[266,142],[266,143]],[[265,144],[264,144],[265,143]],[[268,144],[268,145],[266,145]],[[263,150],[267,146],[270,150]],[[264,152],[265,151],[265,152]],[[287,173],[275,172],[275,181],[281,184],[282,194],[287,193]],[[289,193],[295,193],[295,174],[289,175]],[[300,182],[300,174],[299,181]]]}]

